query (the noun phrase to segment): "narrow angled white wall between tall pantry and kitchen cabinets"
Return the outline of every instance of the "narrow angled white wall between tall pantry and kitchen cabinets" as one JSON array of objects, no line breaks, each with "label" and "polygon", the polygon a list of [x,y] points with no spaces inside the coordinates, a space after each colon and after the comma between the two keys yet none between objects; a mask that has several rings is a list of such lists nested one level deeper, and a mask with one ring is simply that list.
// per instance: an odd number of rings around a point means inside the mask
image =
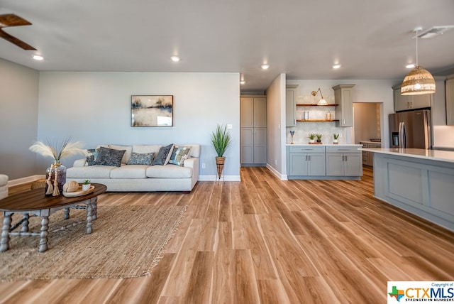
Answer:
[{"label": "narrow angled white wall between tall pantry and kitchen cabinets", "polygon": [[281,177],[285,158],[285,74],[267,88],[267,167]]}]

